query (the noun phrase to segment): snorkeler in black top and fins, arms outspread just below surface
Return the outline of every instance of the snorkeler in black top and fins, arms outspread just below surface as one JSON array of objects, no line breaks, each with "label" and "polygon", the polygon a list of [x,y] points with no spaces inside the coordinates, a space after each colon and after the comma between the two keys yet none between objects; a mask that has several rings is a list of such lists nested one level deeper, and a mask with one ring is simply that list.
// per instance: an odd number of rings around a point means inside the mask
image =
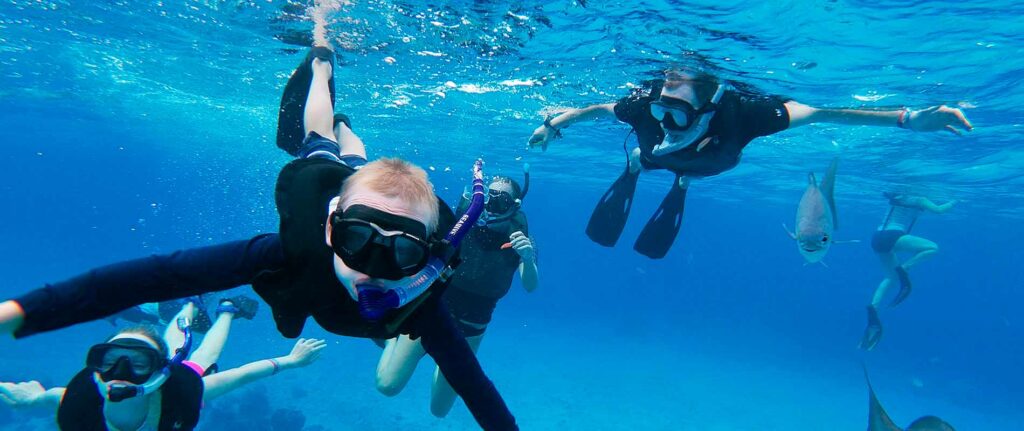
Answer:
[{"label": "snorkeler in black top and fins, arms outspread just below surface", "polygon": [[[662,206],[647,221],[633,248],[659,259],[672,247],[682,225],[690,180],[734,168],[743,147],[767,136],[811,123],[889,126],[916,132],[956,127],[970,131],[971,123],[958,109],[946,105],[889,112],[818,109],[778,96],[748,94],[708,73],[675,70],[614,103],[569,110],[548,118],[534,131],[529,145],[547,149],[551,139],[575,123],[615,118],[633,127],[639,140],[627,158],[622,175],[604,193],[587,225],[595,243],[613,247],[629,217],[637,178],[643,169],[667,169],[676,174]],[[624,143],[625,146],[625,143]]]}]

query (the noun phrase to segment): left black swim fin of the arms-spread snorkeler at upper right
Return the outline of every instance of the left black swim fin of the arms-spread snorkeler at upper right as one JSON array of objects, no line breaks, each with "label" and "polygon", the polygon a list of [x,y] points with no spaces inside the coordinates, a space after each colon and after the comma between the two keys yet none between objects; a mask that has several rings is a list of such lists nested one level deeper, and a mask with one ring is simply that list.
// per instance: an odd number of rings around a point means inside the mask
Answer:
[{"label": "left black swim fin of the arms-spread snorkeler at upper right", "polygon": [[614,247],[618,242],[618,236],[622,236],[623,228],[626,227],[626,220],[630,216],[630,208],[633,207],[633,195],[637,190],[639,178],[640,171],[630,172],[630,167],[627,165],[626,171],[601,197],[601,201],[594,208],[594,213],[590,215],[590,222],[587,223],[587,236],[593,242],[604,247]]}]

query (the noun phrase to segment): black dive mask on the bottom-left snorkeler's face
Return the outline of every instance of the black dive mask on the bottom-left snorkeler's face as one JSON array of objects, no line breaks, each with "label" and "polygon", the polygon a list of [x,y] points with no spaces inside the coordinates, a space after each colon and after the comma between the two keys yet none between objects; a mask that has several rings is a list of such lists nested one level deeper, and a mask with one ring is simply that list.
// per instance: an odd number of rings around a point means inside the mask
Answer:
[{"label": "black dive mask on the bottom-left snorkeler's face", "polygon": [[104,382],[141,385],[167,365],[167,358],[144,341],[123,338],[92,346],[85,363]]}]

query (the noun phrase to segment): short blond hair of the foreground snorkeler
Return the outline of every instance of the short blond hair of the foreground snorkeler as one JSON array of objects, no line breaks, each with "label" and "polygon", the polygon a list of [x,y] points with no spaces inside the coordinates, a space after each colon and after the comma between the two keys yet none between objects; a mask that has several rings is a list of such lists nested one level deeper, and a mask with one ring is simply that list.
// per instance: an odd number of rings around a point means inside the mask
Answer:
[{"label": "short blond hair of the foreground snorkeler", "polygon": [[430,214],[423,220],[427,233],[437,229],[439,204],[434,196],[434,184],[419,166],[401,159],[379,159],[364,165],[342,185],[339,209],[357,191],[368,189],[407,202],[412,208],[426,208]]}]

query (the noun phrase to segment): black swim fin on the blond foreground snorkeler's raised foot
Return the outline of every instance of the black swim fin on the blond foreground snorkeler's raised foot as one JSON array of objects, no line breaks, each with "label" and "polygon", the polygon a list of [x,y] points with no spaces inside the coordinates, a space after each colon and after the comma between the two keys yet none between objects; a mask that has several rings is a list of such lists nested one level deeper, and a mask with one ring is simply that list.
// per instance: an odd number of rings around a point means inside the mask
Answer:
[{"label": "black swim fin on the blond foreground snorkeler's raised foot", "polygon": [[328,86],[331,88],[331,106],[334,106],[334,73],[337,72],[337,68],[334,68],[335,54],[331,48],[314,46],[292,73],[281,95],[281,110],[278,112],[278,147],[292,156],[298,156],[302,149],[302,141],[306,138],[302,118],[305,116],[309,84],[313,79],[313,58],[331,62],[332,76]]}]

